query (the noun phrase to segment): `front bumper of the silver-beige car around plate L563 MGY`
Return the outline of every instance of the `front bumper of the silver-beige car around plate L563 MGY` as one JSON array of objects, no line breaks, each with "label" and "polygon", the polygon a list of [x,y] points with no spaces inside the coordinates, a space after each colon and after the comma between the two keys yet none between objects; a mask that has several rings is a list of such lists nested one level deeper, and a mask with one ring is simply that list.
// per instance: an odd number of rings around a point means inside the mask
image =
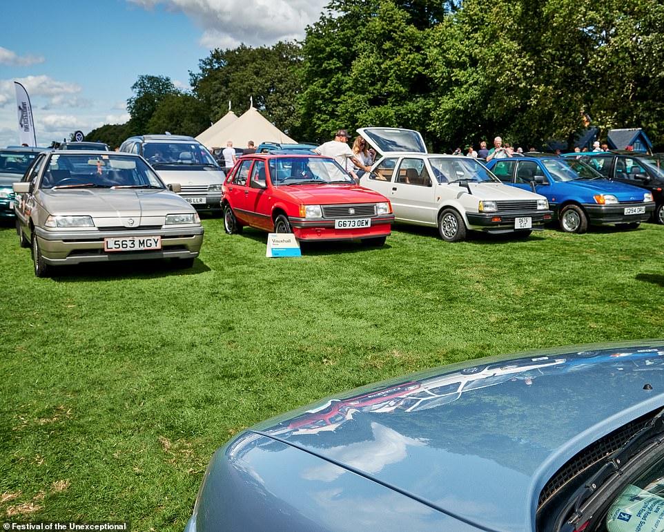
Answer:
[{"label": "front bumper of the silver-beige car around plate L563 MGY", "polygon": [[[114,260],[145,260],[149,258],[195,258],[203,243],[204,229],[169,227],[168,229],[135,229],[99,231],[47,231],[35,228],[44,261],[48,265],[74,265]],[[104,251],[104,238],[161,236],[162,249],[144,251]]]}]

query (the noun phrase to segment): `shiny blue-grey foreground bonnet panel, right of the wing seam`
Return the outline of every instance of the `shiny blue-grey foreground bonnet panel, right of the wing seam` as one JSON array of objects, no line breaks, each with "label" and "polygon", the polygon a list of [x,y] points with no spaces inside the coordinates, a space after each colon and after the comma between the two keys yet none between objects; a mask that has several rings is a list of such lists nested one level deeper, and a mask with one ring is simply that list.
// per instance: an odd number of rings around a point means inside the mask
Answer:
[{"label": "shiny blue-grey foreground bonnet panel, right of the wing seam", "polygon": [[[663,365],[664,341],[475,359],[351,390],[250,431],[484,529],[521,532],[534,529],[540,491],[569,459],[664,405]],[[353,397],[387,395],[411,382],[427,388],[425,398],[436,386],[460,391],[411,411],[394,397],[382,411],[376,404],[350,409]],[[645,383],[652,390],[644,391]],[[347,415],[333,430],[307,435],[301,427],[289,429],[304,413],[344,400]]]}]

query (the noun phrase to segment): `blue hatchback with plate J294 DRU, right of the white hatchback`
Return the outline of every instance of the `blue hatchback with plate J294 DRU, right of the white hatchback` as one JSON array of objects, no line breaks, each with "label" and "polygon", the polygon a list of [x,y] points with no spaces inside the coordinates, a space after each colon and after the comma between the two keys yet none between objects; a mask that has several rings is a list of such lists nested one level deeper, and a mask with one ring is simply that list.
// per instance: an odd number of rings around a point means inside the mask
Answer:
[{"label": "blue hatchback with plate J294 DRU, right of the white hatchback", "polygon": [[589,225],[636,228],[655,209],[650,192],[607,180],[579,160],[540,154],[492,159],[487,167],[505,184],[546,196],[567,233],[585,233]]}]

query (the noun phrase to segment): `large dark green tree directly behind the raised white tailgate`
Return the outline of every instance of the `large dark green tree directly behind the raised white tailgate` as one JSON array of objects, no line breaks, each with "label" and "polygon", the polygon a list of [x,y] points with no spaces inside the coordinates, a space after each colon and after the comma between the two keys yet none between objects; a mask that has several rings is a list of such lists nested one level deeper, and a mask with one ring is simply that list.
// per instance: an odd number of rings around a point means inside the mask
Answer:
[{"label": "large dark green tree directly behind the raised white tailgate", "polygon": [[306,28],[302,124],[326,140],[339,127],[404,126],[426,136],[427,32],[451,3],[332,1]]}]

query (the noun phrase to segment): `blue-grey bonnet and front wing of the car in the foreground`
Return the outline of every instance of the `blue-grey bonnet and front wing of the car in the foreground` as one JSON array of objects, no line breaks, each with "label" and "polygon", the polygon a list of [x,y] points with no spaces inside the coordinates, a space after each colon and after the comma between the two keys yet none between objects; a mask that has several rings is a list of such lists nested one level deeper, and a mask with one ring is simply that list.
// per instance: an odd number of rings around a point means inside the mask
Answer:
[{"label": "blue-grey bonnet and front wing of the car in the foreground", "polygon": [[328,398],[217,450],[187,531],[534,531],[549,479],[664,405],[664,341],[476,359]]}]

